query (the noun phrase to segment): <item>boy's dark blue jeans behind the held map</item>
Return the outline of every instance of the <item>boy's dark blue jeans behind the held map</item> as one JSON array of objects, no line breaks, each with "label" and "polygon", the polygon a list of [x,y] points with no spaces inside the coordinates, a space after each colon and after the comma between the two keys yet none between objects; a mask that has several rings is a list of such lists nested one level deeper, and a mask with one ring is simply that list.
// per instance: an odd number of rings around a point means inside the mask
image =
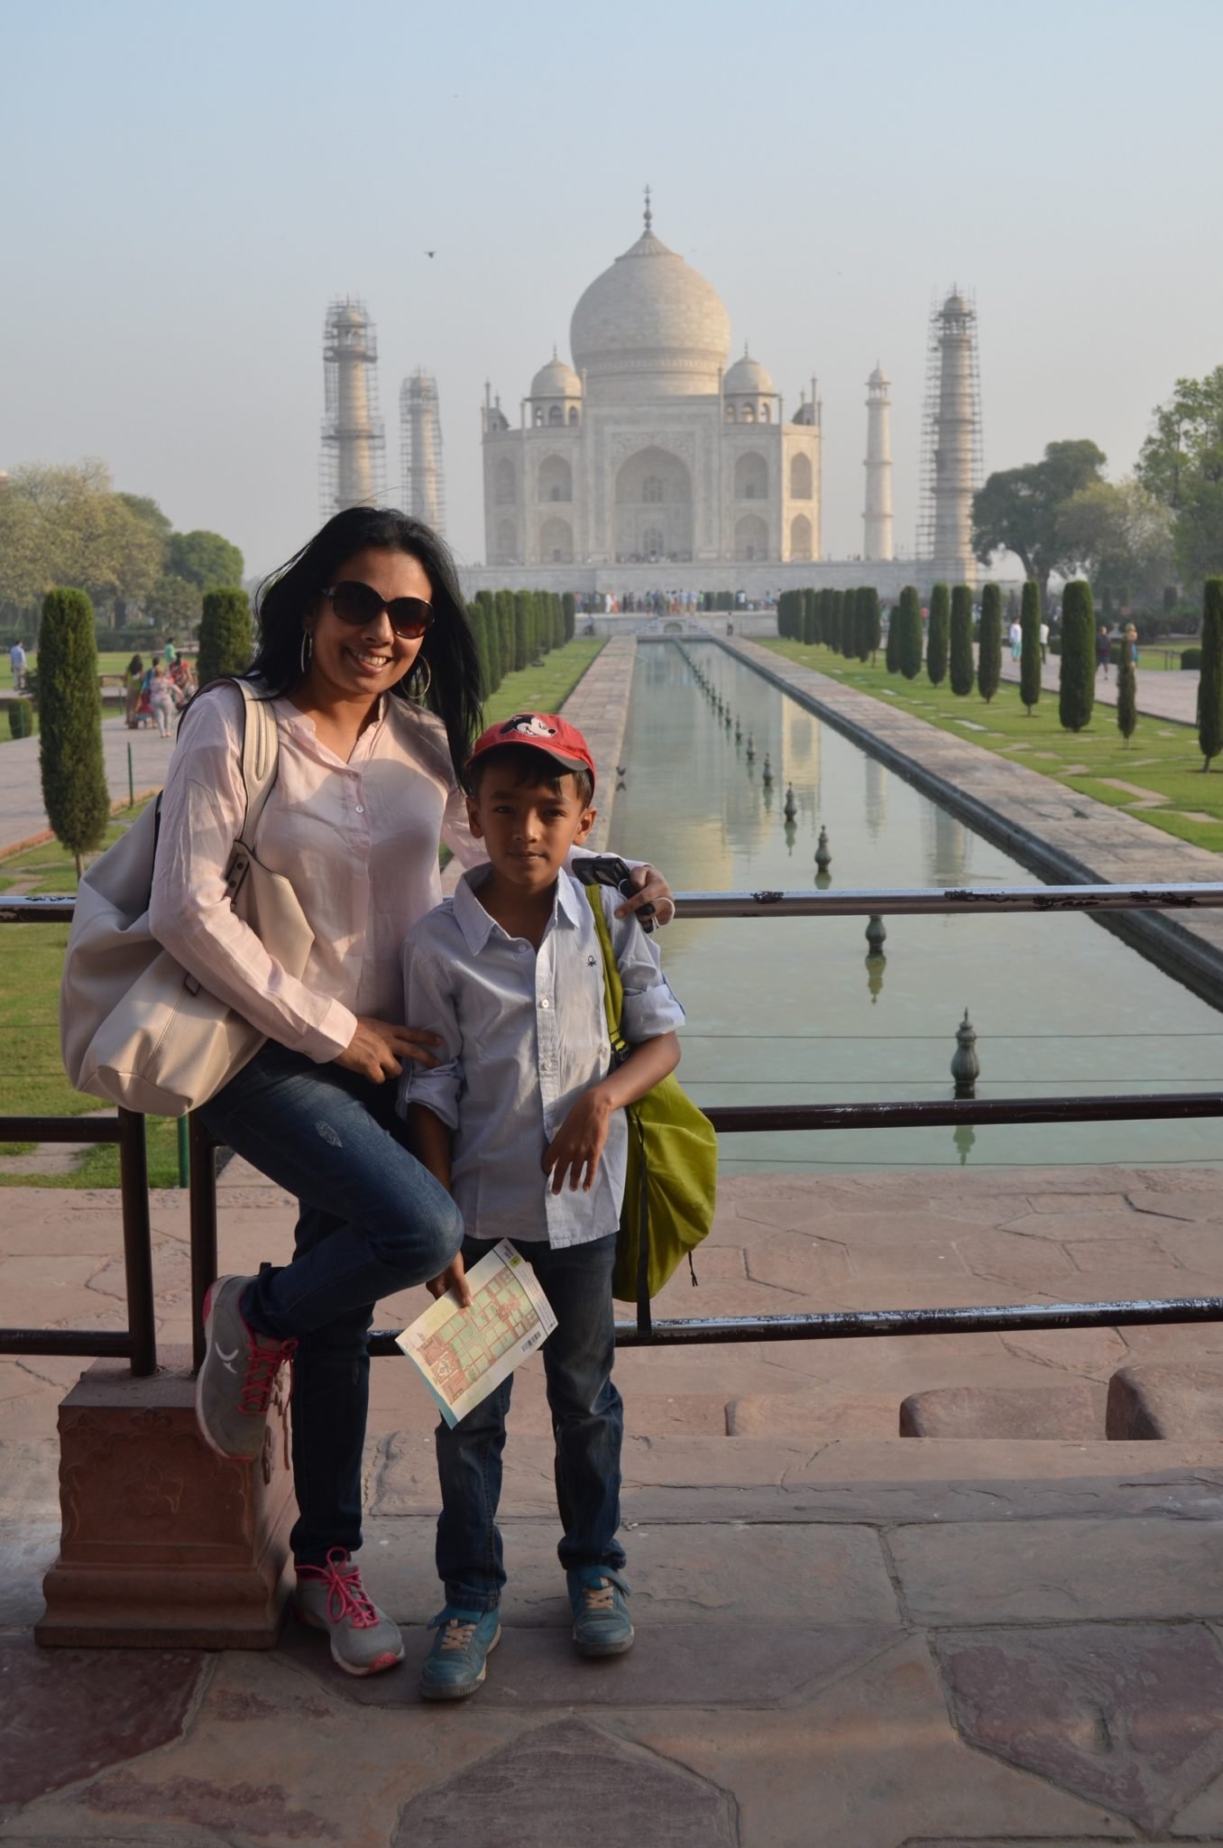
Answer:
[{"label": "boy's dark blue jeans behind the held map", "polygon": [[[615,1534],[621,1525],[621,1440],[624,1406],[612,1384],[615,1316],[612,1266],[615,1234],[587,1246],[552,1251],[545,1244],[519,1246],[556,1312],[556,1329],[543,1343],[552,1434],[556,1438],[556,1506],[563,1538],[560,1563],[624,1565]],[[464,1238],[467,1270],[491,1244]],[[501,1604],[506,1582],[497,1502],[501,1453],[514,1375],[482,1399],[454,1430],[438,1425],[438,1576],[447,1604],[486,1611]]]}]

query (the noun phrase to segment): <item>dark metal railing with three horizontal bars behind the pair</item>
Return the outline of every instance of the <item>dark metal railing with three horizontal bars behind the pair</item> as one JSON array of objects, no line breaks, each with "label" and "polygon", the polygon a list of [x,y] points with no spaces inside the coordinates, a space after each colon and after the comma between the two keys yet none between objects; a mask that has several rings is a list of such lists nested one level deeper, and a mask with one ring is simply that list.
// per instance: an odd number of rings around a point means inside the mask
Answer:
[{"label": "dark metal railing with three horizontal bars behind the pair", "polygon": [[[1016,911],[1210,911],[1223,909],[1217,885],[1022,885],[975,891],[682,893],[682,918],[900,917]],[[70,898],[0,898],[0,924],[61,922]],[[937,1103],[724,1105],[706,1111],[719,1135],[794,1129],[900,1129],[983,1124],[1092,1124],[1223,1116],[1223,1090],[1103,1094],[1090,1098],[942,1100]],[[122,1170],[127,1334],[59,1329],[0,1329],[0,1355],[124,1355],[133,1371],[155,1368],[148,1170],[142,1118],[0,1118],[0,1140],[118,1142]],[[196,1366],[203,1358],[203,1297],[216,1277],[216,1144],[190,1120],[190,1284]],[[1107,1329],[1134,1323],[1223,1319],[1223,1297],[1162,1297],[1108,1303],[1020,1303],[966,1308],[837,1310],[802,1316],[685,1316],[617,1323],[617,1345],[700,1345],[713,1342],[846,1340],[887,1334],[1016,1332],[1022,1329]],[[371,1355],[401,1355],[394,1331],[369,1336]]]}]

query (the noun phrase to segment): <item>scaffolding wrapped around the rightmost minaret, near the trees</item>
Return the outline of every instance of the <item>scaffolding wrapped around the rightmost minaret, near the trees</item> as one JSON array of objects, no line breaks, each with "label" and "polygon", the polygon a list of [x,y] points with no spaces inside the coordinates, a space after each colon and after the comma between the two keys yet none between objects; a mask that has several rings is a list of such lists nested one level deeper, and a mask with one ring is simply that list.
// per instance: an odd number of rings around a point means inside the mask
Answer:
[{"label": "scaffolding wrapped around the rightmost minaret, near the trees", "polygon": [[985,479],[975,298],[951,288],[929,310],[916,554],[935,577],[974,582],[972,497]]}]

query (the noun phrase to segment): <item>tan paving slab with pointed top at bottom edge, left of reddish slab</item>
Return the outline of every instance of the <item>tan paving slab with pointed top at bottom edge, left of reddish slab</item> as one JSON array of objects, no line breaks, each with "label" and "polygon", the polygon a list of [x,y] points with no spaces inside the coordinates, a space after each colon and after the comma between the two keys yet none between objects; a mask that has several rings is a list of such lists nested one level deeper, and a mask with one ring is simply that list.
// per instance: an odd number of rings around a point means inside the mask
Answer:
[{"label": "tan paving slab with pointed top at bottom edge, left of reddish slab", "polygon": [[1132,1839],[1116,1811],[966,1746],[922,1637],[835,1678],[805,1708],[626,1713],[621,1732],[733,1791],[741,1848]]}]

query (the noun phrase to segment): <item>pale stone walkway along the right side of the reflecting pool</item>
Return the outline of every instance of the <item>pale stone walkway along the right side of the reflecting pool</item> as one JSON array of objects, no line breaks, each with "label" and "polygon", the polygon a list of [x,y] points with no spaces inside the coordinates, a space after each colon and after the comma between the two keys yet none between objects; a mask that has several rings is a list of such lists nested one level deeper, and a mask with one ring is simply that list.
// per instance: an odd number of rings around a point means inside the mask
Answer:
[{"label": "pale stone walkway along the right side of the reflecting pool", "polygon": [[[1223,854],[1190,846],[1125,809],[1029,771],[1016,756],[940,732],[900,704],[855,693],[756,641],[715,639],[1042,880],[1059,885],[1223,881]],[[1223,911],[1112,913],[1107,928],[1223,1005]]]}]

